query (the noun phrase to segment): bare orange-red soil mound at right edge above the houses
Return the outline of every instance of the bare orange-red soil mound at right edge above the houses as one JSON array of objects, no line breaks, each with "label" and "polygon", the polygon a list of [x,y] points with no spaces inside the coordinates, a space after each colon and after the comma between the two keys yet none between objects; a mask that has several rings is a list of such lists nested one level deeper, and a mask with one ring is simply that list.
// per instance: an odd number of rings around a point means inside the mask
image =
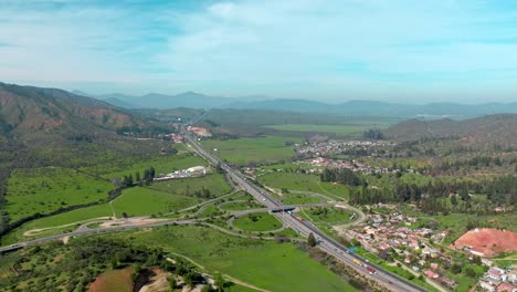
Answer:
[{"label": "bare orange-red soil mound at right edge above the houses", "polygon": [[487,257],[517,251],[517,233],[489,228],[471,230],[454,242],[455,249],[463,249],[464,246],[471,246]]}]

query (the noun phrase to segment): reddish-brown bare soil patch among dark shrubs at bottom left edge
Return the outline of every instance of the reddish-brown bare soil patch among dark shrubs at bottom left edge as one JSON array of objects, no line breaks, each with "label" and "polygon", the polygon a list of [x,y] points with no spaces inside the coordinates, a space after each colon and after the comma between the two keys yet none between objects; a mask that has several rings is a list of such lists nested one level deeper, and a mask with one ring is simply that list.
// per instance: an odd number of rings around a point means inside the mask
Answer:
[{"label": "reddish-brown bare soil patch among dark shrubs at bottom left edge", "polygon": [[89,292],[131,292],[133,271],[133,268],[126,268],[124,270],[105,272],[97,277],[89,285]]}]

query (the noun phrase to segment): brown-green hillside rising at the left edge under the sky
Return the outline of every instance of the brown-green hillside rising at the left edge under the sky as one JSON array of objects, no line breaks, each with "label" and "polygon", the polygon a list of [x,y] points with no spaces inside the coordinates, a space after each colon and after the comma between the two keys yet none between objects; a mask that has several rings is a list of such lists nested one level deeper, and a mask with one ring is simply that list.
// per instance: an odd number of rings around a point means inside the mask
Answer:
[{"label": "brown-green hillside rising at the left edge under the sky", "polygon": [[0,135],[4,137],[91,136],[143,124],[96,98],[57,88],[0,83]]}]

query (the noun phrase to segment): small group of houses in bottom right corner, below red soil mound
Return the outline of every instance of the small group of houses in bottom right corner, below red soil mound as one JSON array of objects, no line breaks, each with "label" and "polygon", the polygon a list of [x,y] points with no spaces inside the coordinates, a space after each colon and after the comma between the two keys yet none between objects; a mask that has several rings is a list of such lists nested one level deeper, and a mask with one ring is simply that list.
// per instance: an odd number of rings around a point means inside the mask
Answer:
[{"label": "small group of houses in bottom right corner, below red soil mound", "polygon": [[517,292],[517,270],[493,267],[479,279],[477,284],[488,292]]}]

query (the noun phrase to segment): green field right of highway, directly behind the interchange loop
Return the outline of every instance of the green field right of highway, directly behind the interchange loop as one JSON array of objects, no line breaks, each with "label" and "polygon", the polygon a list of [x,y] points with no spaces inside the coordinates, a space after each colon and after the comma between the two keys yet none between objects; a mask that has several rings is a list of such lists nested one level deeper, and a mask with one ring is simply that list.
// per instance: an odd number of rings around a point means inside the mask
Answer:
[{"label": "green field right of highway, directly behind the interchange loop", "polygon": [[347,186],[320,182],[319,176],[316,175],[271,173],[261,176],[258,180],[273,188],[318,192],[331,199],[347,200],[349,195],[349,188]]}]

